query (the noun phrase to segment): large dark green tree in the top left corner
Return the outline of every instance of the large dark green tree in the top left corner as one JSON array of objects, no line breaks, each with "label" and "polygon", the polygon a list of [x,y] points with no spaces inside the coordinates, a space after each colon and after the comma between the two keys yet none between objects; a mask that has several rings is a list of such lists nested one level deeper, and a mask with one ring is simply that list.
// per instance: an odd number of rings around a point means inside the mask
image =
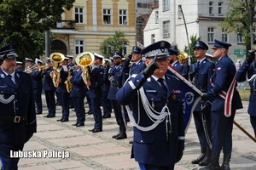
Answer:
[{"label": "large dark green tree in the top left corner", "polygon": [[75,0],[0,0],[0,45],[12,42],[21,58],[44,54],[45,31],[61,20]]}]

